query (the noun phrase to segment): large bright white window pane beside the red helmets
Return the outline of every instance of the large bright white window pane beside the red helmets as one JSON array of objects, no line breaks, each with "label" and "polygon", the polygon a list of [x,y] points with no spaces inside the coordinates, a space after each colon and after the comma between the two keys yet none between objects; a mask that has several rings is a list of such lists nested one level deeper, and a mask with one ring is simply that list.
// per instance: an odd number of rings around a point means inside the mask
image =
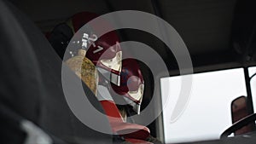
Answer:
[{"label": "large bright white window pane beside the red helmets", "polygon": [[182,77],[185,76],[160,79],[162,100],[168,100],[162,107],[166,143],[218,139],[232,124],[231,102],[247,95],[243,69],[193,74],[188,105],[177,121],[171,123],[171,114],[182,90]]}]

